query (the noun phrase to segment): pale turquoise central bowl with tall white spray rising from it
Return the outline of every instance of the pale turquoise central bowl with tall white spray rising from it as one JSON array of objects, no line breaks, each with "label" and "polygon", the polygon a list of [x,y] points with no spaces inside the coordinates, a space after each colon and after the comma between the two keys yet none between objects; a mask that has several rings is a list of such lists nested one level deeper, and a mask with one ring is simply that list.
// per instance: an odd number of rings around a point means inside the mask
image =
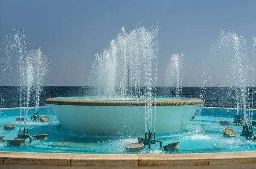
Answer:
[{"label": "pale turquoise central bowl with tall white spray rising from it", "polygon": [[[90,82],[96,85],[98,96],[46,100],[61,126],[75,132],[111,135],[185,129],[203,101],[157,97],[157,34],[157,26],[150,30],[137,27],[129,33],[122,27],[110,47],[95,56]],[[176,55],[181,63],[183,54]]]}]

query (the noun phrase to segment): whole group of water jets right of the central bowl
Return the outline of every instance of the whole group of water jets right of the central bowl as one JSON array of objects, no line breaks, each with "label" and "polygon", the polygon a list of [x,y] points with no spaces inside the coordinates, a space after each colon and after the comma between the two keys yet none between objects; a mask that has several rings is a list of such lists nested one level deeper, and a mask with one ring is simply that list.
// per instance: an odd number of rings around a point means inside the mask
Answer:
[{"label": "whole group of water jets right of the central bowl", "polygon": [[[254,38],[254,37],[253,37]],[[221,30],[219,40],[216,43],[217,45],[213,46],[214,59],[220,60],[220,67],[225,68],[227,71],[223,74],[225,85],[230,86],[226,93],[230,95],[233,93],[233,101],[236,102],[236,105],[233,107],[237,108],[236,115],[234,115],[234,119],[232,123],[235,123],[239,126],[239,124],[243,125],[242,136],[248,134],[250,130],[250,126],[252,124],[253,117],[253,95],[254,88],[252,88],[252,92],[250,93],[249,86],[249,66],[248,66],[248,55],[247,55],[247,47],[244,37],[238,36],[235,32],[224,32],[224,29]],[[253,39],[253,46],[254,39]],[[253,55],[253,80],[254,83],[254,60],[255,55]],[[205,66],[205,65],[204,65]],[[209,71],[208,71],[209,72]],[[205,74],[205,72],[204,72]],[[204,84],[207,83],[206,78],[202,77]],[[235,87],[234,87],[235,86]],[[254,87],[254,86],[253,86]],[[202,89],[205,90],[203,87]],[[202,95],[204,95],[202,90]],[[250,96],[251,94],[251,96]],[[250,101],[251,99],[251,101]],[[243,117],[242,117],[243,116]],[[244,120],[243,119],[250,119]],[[223,123],[226,123],[225,121]],[[248,134],[249,135],[249,134]],[[252,137],[252,133],[250,136]]]}]

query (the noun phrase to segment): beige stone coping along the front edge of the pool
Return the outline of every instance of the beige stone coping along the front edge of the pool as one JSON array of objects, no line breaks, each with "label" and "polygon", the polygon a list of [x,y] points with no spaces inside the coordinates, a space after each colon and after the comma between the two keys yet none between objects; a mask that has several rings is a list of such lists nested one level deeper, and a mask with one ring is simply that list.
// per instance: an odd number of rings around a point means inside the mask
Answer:
[{"label": "beige stone coping along the front edge of the pool", "polygon": [[0,164],[43,166],[212,166],[255,164],[256,151],[204,154],[66,154],[0,152]]}]

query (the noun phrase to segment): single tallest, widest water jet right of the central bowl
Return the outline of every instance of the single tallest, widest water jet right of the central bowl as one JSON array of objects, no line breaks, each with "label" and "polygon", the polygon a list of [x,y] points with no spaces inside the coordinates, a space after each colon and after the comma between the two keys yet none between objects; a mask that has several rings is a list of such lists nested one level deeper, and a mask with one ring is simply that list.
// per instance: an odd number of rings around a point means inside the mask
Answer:
[{"label": "single tallest, widest water jet right of the central bowl", "polygon": [[[225,57],[225,63],[227,63],[227,72],[230,70],[230,74],[225,77],[227,83],[230,86],[235,86],[236,91],[236,106],[237,114],[242,110],[244,118],[247,117],[246,109],[247,103],[247,89],[248,86],[248,56],[245,39],[242,36],[238,36],[235,32],[224,32],[221,30],[221,34],[218,41],[220,57]],[[246,123],[247,120],[245,120]]]}]

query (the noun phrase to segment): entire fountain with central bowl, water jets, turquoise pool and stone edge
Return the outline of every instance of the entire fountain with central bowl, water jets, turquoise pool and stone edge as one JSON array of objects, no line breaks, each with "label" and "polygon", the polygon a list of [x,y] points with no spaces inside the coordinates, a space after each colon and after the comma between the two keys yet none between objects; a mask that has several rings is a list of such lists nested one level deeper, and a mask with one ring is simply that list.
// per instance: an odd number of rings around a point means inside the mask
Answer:
[{"label": "entire fountain with central bowl, water jets, turquoise pool and stone edge", "polygon": [[[253,140],[255,140],[255,135],[253,135],[254,128],[252,127],[253,111],[255,111],[253,110],[253,98],[252,101],[247,101],[248,93],[251,94],[254,89],[247,90],[247,80],[236,82],[241,75],[244,75],[243,71],[246,72],[246,70],[241,69],[245,61],[238,56],[241,53],[242,56],[244,56],[244,53],[241,52],[243,48],[241,46],[243,45],[239,43],[242,38],[234,34],[231,36],[231,34],[225,35],[224,33],[222,34],[223,37],[221,37],[223,46],[233,44],[230,45],[233,46],[233,48],[228,46],[227,49],[237,49],[233,54],[236,56],[234,60],[239,60],[239,66],[237,66],[237,68],[240,69],[240,74],[239,77],[231,77],[230,75],[229,82],[240,85],[236,87],[236,95],[234,97],[236,98],[236,105],[239,109],[213,109],[204,107],[201,109],[202,116],[197,114],[196,118],[191,120],[191,117],[194,115],[198,106],[203,103],[203,100],[180,97],[182,80],[175,79],[177,82],[177,97],[157,96],[157,31],[157,28],[147,30],[143,27],[138,27],[132,32],[127,33],[124,31],[124,28],[122,28],[119,35],[114,40],[111,40],[110,47],[105,48],[101,54],[96,54],[92,66],[93,75],[90,76],[90,80],[92,83],[97,84],[96,92],[98,95],[47,99],[47,109],[55,114],[59,122],[56,120],[51,123],[38,123],[37,121],[39,120],[47,121],[49,118],[45,116],[47,115],[46,109],[41,109],[39,114],[39,104],[35,103],[36,110],[31,117],[31,120],[34,122],[26,123],[27,120],[25,120],[24,124],[27,124],[27,126],[24,127],[23,133],[21,133],[20,129],[17,138],[9,139],[16,137],[14,133],[17,132],[17,129],[14,128],[14,131],[2,131],[5,136],[4,138],[8,140],[8,146],[2,146],[3,136],[0,136],[1,151],[5,151],[4,153],[9,151],[65,152],[70,155],[70,158],[67,158],[68,167],[76,165],[77,161],[84,161],[84,158],[80,157],[86,155],[80,156],[81,153],[97,154],[95,157],[100,157],[100,161],[104,159],[104,163],[106,163],[108,167],[110,166],[109,161],[120,161],[122,155],[119,154],[130,152],[140,152],[140,155],[134,155],[134,157],[136,157],[134,161],[139,167],[148,163],[148,157],[150,157],[141,154],[153,153],[164,153],[161,156],[167,157],[163,158],[164,160],[159,160],[156,158],[157,156],[152,155],[153,162],[156,163],[156,166],[159,164],[162,165],[163,162],[166,161],[176,161],[177,157],[180,157],[180,161],[186,161],[186,163],[187,161],[192,161],[191,163],[189,162],[189,167],[195,164],[197,165],[198,160],[202,159],[205,159],[205,165],[209,165],[212,159],[216,161],[216,156],[218,159],[221,159],[220,165],[223,166],[223,160],[225,159],[223,159],[220,154],[212,155],[209,152],[229,152],[224,154],[225,158],[236,156],[239,160],[242,158],[248,159],[248,157],[250,157],[249,163],[251,163],[251,159],[254,158],[251,154],[255,152],[236,153],[236,151],[256,150],[253,143]],[[229,40],[229,43],[226,42],[227,40]],[[34,66],[35,61],[33,58],[35,54],[41,55],[41,49],[24,52],[23,57],[24,67],[27,69],[23,70],[25,87],[21,87],[23,99],[20,111],[25,111],[25,115],[28,115],[29,105],[31,105],[30,103],[33,99],[33,89],[35,89],[35,93],[37,93],[36,95],[38,96],[41,92],[41,82],[40,80],[36,80],[39,77],[36,76],[37,67]],[[178,55],[179,54],[177,54],[177,56]],[[230,65],[233,66],[235,64],[236,61],[234,60]],[[175,59],[173,59],[173,62],[175,63],[174,65],[177,65]],[[230,66],[229,69],[234,70],[235,68],[232,66]],[[177,77],[182,77],[181,72],[177,71],[176,73]],[[36,81],[38,81],[38,88]],[[207,84],[206,81],[205,84]],[[205,88],[202,87],[202,90],[204,89]],[[240,97],[240,95],[244,96]],[[205,95],[203,95],[203,97],[204,96]],[[203,97],[201,98],[203,99]],[[35,100],[35,102],[39,103],[39,98],[36,96]],[[15,111],[15,109],[2,110],[0,120],[4,119],[6,123],[17,124],[18,122],[15,121],[15,113],[17,113],[17,111]],[[207,112],[214,112],[214,115],[207,116]],[[50,115],[50,113],[48,115]],[[236,115],[234,120],[233,115]],[[242,117],[243,115],[244,117]],[[51,117],[55,116],[53,114],[51,115]],[[244,124],[242,118],[245,119]],[[21,117],[16,119],[18,121],[22,120]],[[249,121],[247,119],[249,119]],[[238,136],[235,132],[240,126],[235,126],[233,123],[229,124],[230,120],[233,120],[236,125],[243,125],[241,135]],[[59,123],[62,127],[59,127]],[[223,129],[223,126],[219,126],[219,123],[225,126],[229,125],[230,128]],[[49,133],[51,137],[48,139],[48,134],[35,135],[36,133],[33,133],[32,136],[35,138],[35,144],[30,144],[29,146],[24,146],[17,150],[13,149],[12,146],[23,146],[24,143],[28,142],[27,138],[32,142],[32,138],[27,129],[28,125],[30,131],[33,131],[31,130],[32,128],[35,129],[36,132]],[[222,130],[224,132],[223,135]],[[88,134],[84,135],[81,134],[81,132]],[[137,137],[137,135],[141,135],[142,133],[145,133],[145,137]],[[254,138],[252,139],[253,136]],[[178,139],[178,141],[176,139]],[[40,140],[47,141],[44,142]],[[132,141],[138,141],[139,143],[131,143]],[[181,148],[179,147],[179,143],[182,145]],[[165,144],[166,146],[163,146]],[[124,145],[126,145],[125,148]],[[148,146],[149,149],[145,149],[145,146]],[[144,151],[141,152],[142,150]],[[163,150],[165,150],[165,152]],[[169,155],[177,151],[185,154]],[[201,155],[198,152],[204,154]],[[8,153],[4,153],[0,152],[0,155],[3,155],[3,161],[6,162],[6,159],[9,160],[10,158]],[[108,155],[108,157],[111,156],[119,159],[106,159],[106,156],[103,157],[99,155],[101,153],[118,154],[113,156]],[[186,155],[186,153],[189,153],[189,155]],[[60,155],[62,162],[63,156],[67,154]],[[12,155],[14,156],[15,152],[12,152]],[[22,152],[19,152],[17,158],[12,156],[12,159],[20,159],[20,155],[23,155]],[[28,163],[31,164],[31,162],[27,162],[27,158],[34,159],[35,157],[33,157],[33,155],[35,154],[26,153],[26,165]],[[37,155],[36,158],[43,161],[41,159],[42,154]],[[52,158],[49,158],[49,154],[45,153],[45,155],[46,157],[43,158],[47,159],[48,162],[52,160]],[[124,155],[122,157],[133,157],[132,155]],[[58,155],[54,154],[54,156]],[[212,156],[215,157],[212,158]],[[146,160],[141,159],[141,157],[145,157]],[[184,157],[187,157],[186,159],[188,160],[184,160]],[[56,159],[54,158],[54,160]],[[127,161],[127,159],[125,160]],[[33,162],[33,160],[31,161]],[[235,166],[232,158],[227,161],[231,161],[230,163]],[[20,160],[16,160],[16,163],[19,165]],[[149,163],[151,165],[150,167],[152,167],[152,163]],[[226,165],[228,166],[230,163]],[[0,164],[0,167],[1,165],[8,167],[6,163]],[[36,163],[36,165],[38,165],[38,163]],[[78,166],[79,165],[80,164],[78,164]],[[87,161],[86,165],[88,165]],[[100,166],[101,164],[97,163],[97,165]],[[120,164],[114,164],[113,166],[119,165]],[[170,164],[165,165],[168,166]],[[183,165],[183,163],[175,162],[171,165],[179,166]],[[215,164],[215,166],[217,165],[218,164]],[[238,166],[238,164],[236,166]]]}]

